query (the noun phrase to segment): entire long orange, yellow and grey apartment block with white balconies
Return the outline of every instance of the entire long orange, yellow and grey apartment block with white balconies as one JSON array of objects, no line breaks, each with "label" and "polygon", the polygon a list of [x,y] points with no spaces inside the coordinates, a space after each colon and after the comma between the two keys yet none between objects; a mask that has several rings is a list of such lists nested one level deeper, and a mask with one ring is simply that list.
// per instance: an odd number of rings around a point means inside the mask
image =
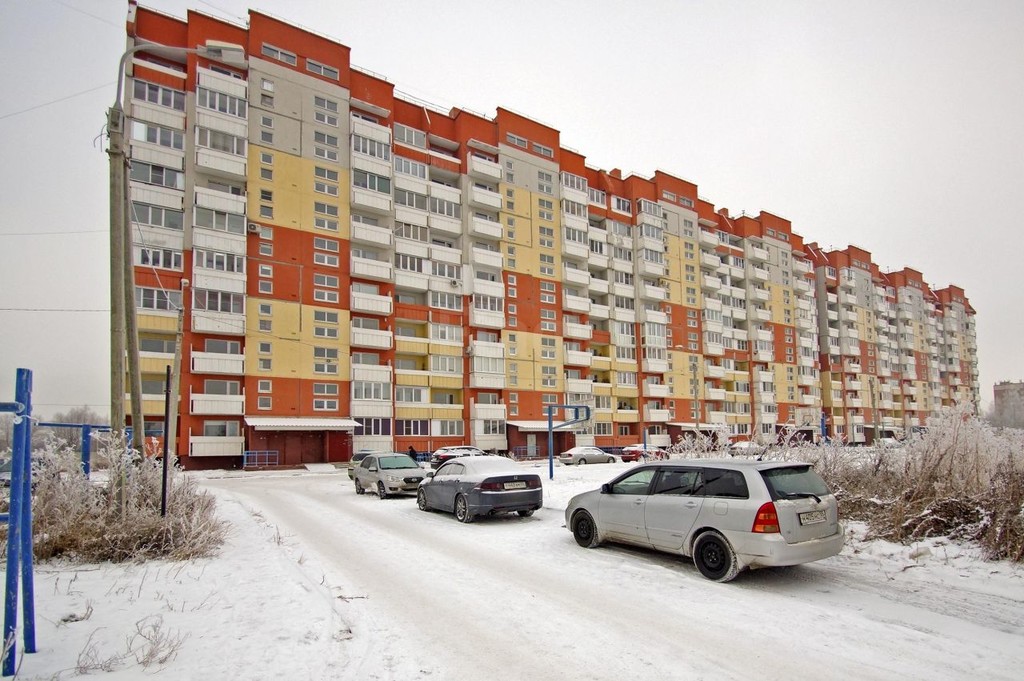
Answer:
[{"label": "entire long orange, yellow and grey apartment block with white balconies", "polygon": [[662,171],[593,168],[521,114],[396,95],[257,11],[132,4],[127,31],[248,57],[127,65],[146,432],[180,338],[186,466],[546,454],[549,419],[577,415],[556,451],[822,426],[865,441],[977,398],[959,289],[854,266],[852,247],[824,254]]}]

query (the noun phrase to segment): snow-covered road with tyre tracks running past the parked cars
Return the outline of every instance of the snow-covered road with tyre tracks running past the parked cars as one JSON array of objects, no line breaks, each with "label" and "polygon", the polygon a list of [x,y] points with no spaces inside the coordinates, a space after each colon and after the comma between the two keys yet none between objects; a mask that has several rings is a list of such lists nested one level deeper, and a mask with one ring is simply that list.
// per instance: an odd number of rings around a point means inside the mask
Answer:
[{"label": "snow-covered road with tyre tracks running past the parked cars", "polygon": [[344,471],[203,484],[330,589],[352,632],[332,678],[1018,678],[1024,579],[1006,565],[855,544],[719,585],[681,558],[578,547],[565,503],[628,466],[544,468],[534,517],[472,524],[356,496]]}]

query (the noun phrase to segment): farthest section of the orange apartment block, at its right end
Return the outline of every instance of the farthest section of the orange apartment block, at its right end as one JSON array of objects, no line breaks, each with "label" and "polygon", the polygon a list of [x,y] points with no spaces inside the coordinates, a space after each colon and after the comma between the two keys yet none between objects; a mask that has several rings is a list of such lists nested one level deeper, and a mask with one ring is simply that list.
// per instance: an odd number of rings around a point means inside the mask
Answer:
[{"label": "farthest section of the orange apartment block, at its right end", "polygon": [[854,246],[809,251],[833,435],[902,438],[943,407],[978,403],[974,310],[962,289],[933,289],[909,267],[883,272]]}]

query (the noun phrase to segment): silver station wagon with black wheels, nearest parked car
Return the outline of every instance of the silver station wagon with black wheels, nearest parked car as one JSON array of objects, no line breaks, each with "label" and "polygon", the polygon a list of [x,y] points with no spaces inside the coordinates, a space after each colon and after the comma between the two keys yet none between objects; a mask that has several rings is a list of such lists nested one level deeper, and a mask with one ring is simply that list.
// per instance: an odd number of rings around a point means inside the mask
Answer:
[{"label": "silver station wagon with black wheels, nearest parked car", "polygon": [[573,497],[565,526],[587,548],[617,542],[691,556],[715,582],[828,558],[845,539],[836,497],[810,464],[740,459],[638,466]]}]

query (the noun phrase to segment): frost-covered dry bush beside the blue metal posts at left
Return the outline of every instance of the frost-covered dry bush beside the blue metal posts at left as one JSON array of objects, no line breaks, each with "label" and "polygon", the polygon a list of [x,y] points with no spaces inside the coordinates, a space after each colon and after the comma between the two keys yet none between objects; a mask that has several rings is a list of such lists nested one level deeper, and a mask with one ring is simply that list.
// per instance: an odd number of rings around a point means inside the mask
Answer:
[{"label": "frost-covered dry bush beside the blue metal posts at left", "polygon": [[[217,518],[211,495],[172,466],[162,516],[162,462],[124,452],[123,440],[104,448],[93,459],[91,480],[74,450],[50,442],[33,453],[37,559],[181,560],[211,555],[223,544],[227,525]],[[97,470],[100,462],[106,467]]]}]

